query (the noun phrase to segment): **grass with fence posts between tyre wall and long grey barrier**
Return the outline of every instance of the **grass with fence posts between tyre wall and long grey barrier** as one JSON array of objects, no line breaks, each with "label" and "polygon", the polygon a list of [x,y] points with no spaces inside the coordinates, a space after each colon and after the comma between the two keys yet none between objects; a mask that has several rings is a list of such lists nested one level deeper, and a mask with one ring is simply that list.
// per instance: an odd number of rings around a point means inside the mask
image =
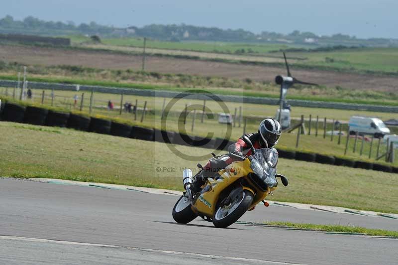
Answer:
[{"label": "grass with fence posts between tyre wall and long grey barrier", "polygon": [[[40,91],[41,92],[41,91]],[[36,91],[33,92],[34,94]],[[46,91],[46,94],[48,95],[50,91]],[[132,113],[125,113],[122,112],[122,114],[119,114],[118,110],[113,110],[113,111],[108,111],[106,109],[106,103],[110,99],[115,104],[118,104],[118,101],[120,101],[120,95],[109,95],[109,94],[102,94],[102,93],[97,93],[95,94],[94,98],[94,106],[92,114],[89,114],[88,109],[89,106],[88,104],[88,96],[86,96],[86,105],[84,106],[84,111],[79,112],[78,108],[71,108],[69,107],[69,102],[65,102],[64,98],[65,96],[69,95],[70,98],[75,95],[75,92],[73,91],[64,91],[62,94],[56,93],[57,96],[61,97],[56,97],[56,100],[54,101],[54,106],[50,107],[49,105],[51,104],[51,99],[47,98],[45,100],[45,105],[41,105],[41,97],[35,98],[35,101],[13,101],[10,98],[3,98],[3,100],[9,100],[11,102],[15,102],[19,105],[24,105],[24,106],[36,106],[36,107],[44,107],[48,109],[53,109],[56,111],[63,111],[63,112],[69,112],[71,111],[72,113],[76,113],[79,115],[84,115],[84,116],[93,116],[96,118],[102,118],[102,119],[107,119],[107,120],[112,120],[118,123],[122,124],[128,124],[128,125],[135,125],[135,126],[140,126],[140,127],[147,127],[147,128],[156,128],[156,129],[161,129],[161,119],[160,119],[160,113],[161,113],[161,108],[163,105],[163,99],[162,98],[153,98],[153,97],[127,97],[124,96],[124,102],[132,102],[135,103],[135,99],[138,100],[139,102],[139,108],[143,108],[144,101],[147,101],[147,108],[149,112],[147,112],[145,119],[143,123],[140,122],[142,112],[139,111],[137,115],[137,120],[134,120],[134,115]],[[169,103],[169,100],[166,101],[166,104]],[[178,115],[184,110],[185,108],[185,103],[190,104],[202,104],[201,101],[194,101],[194,100],[188,100],[186,102],[178,102],[175,107],[171,110],[174,112],[170,117],[167,118],[167,124],[166,124],[166,130],[167,131],[173,131],[173,132],[181,132],[181,126],[185,127],[186,131],[188,134],[191,135],[199,135],[199,136],[206,136],[208,133],[213,133],[213,137],[221,137],[224,138],[226,133],[227,133],[227,127],[225,125],[218,124],[217,120],[214,119],[204,119],[203,124],[200,123],[200,114],[197,114],[196,121],[197,125],[195,127],[195,130],[192,132],[191,131],[191,126],[192,126],[192,120],[193,117],[192,115],[187,117],[187,124],[183,125],[182,122],[178,121]],[[78,105],[79,106],[79,105]],[[100,108],[102,106],[102,108]],[[212,113],[218,113],[222,112],[222,109],[220,106],[218,106],[217,103],[208,101],[206,102],[206,106],[212,111]],[[238,108],[240,106],[240,103],[235,103],[235,104],[228,104],[228,108],[230,108],[231,113],[234,108]],[[263,117],[273,117],[275,114],[275,111],[277,109],[277,106],[264,106],[264,105],[250,105],[250,104],[245,104],[243,105],[243,114],[248,115],[251,113],[252,115],[258,115],[258,118],[249,118],[247,120],[246,124],[246,132],[256,132],[258,131],[258,125],[263,119]],[[305,110],[305,109],[302,109]],[[319,115],[330,115],[329,110],[327,109],[313,109],[316,110],[315,112]],[[299,114],[302,112],[299,112]],[[344,111],[344,115],[352,115],[352,114],[358,114],[357,112],[348,112]],[[334,111],[333,117],[330,118],[335,118],[335,119],[343,119],[346,117],[346,119],[349,119],[349,116],[339,116],[338,111]],[[366,113],[364,113],[366,115]],[[394,116],[389,116],[389,114],[382,114],[385,115],[384,119],[391,118]],[[387,115],[387,116],[386,116]],[[307,116],[306,116],[307,117]],[[378,141],[375,140],[373,142],[373,148],[372,148],[372,155],[369,157],[369,152],[370,152],[370,142],[364,142],[364,147],[363,147],[363,154],[360,154],[360,148],[362,141],[358,140],[357,141],[357,147],[356,147],[356,152],[353,152],[353,147],[354,147],[354,139],[351,138],[349,139],[349,144],[348,144],[348,152],[346,155],[344,155],[344,149],[345,149],[345,143],[346,143],[346,136],[342,136],[341,138],[341,143],[337,144],[338,137],[334,136],[333,141],[331,141],[330,135],[327,135],[325,138],[323,138],[323,119],[321,118],[319,121],[319,131],[318,131],[318,136],[316,137],[314,135],[315,129],[313,128],[315,125],[314,118],[315,116],[312,115],[313,117],[313,122],[312,122],[312,134],[311,135],[301,135],[300,140],[299,140],[299,146],[296,148],[296,140],[297,140],[297,134],[296,131],[294,133],[283,133],[280,141],[278,143],[278,148],[283,149],[283,150],[290,150],[290,151],[301,151],[301,152],[314,152],[314,153],[320,153],[324,155],[332,155],[332,156],[338,156],[341,158],[345,159],[350,159],[350,160],[360,160],[360,161],[366,161],[366,162],[372,162],[372,163],[378,163],[378,164],[385,164],[389,166],[398,166],[398,159],[395,160],[393,164],[384,162],[383,159],[375,161],[376,155],[377,155],[377,144]],[[321,116],[322,117],[322,116]],[[294,121],[296,123],[297,121]],[[308,128],[308,123],[306,123],[306,128]],[[243,134],[243,125],[242,127],[239,128],[238,123],[236,127],[230,127],[229,128],[231,131],[231,140],[238,139],[242,134]],[[330,131],[332,129],[331,123],[327,123],[326,130]],[[343,132],[346,132],[346,125],[344,125]],[[398,129],[396,129],[397,132]],[[381,142],[380,145],[380,154],[384,153],[386,150],[386,144],[385,142]],[[396,157],[398,156],[398,150],[396,150]]]}]

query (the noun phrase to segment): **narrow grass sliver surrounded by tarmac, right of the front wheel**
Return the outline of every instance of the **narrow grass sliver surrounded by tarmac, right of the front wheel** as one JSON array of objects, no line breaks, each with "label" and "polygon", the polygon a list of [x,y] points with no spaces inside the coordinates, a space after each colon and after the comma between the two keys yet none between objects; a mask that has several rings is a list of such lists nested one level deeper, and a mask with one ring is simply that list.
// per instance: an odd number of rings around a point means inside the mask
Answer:
[{"label": "narrow grass sliver surrounded by tarmac, right of the front wheel", "polygon": [[265,224],[269,226],[286,226],[289,228],[323,231],[323,232],[355,233],[355,234],[378,236],[378,237],[398,237],[397,231],[368,229],[356,226],[299,224],[299,223],[290,223],[290,222],[265,222]]}]

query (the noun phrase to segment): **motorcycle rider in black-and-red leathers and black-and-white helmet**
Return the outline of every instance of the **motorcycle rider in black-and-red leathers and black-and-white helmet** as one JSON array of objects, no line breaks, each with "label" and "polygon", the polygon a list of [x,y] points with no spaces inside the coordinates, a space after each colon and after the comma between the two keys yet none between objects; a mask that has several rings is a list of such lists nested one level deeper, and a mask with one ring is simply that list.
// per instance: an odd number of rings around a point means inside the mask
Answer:
[{"label": "motorcycle rider in black-and-red leathers and black-and-white helmet", "polygon": [[[281,133],[282,127],[279,122],[273,118],[267,118],[260,123],[257,133],[245,133],[243,136],[246,135],[253,143],[253,147],[256,149],[272,148],[276,151],[274,146],[278,143]],[[236,143],[231,144],[228,147],[229,153],[238,156],[252,154],[250,146],[246,144],[242,137],[240,137]],[[216,175],[218,171],[224,169],[227,165],[236,160],[237,158],[230,154],[224,154],[210,159],[203,166],[203,170],[200,171],[200,174],[197,175],[193,185],[194,191],[200,191],[200,187],[204,184],[205,178]]]}]

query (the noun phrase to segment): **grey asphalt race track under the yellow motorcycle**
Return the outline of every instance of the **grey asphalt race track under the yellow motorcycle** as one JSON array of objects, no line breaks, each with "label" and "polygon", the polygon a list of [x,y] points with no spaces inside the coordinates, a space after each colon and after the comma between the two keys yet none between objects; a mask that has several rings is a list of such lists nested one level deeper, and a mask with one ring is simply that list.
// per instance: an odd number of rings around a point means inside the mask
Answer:
[{"label": "grey asphalt race track under the yellow motorcycle", "polygon": [[[398,264],[398,239],[200,219],[176,224],[177,196],[0,179],[0,264]],[[240,221],[351,224],[398,220],[260,207]]]}]

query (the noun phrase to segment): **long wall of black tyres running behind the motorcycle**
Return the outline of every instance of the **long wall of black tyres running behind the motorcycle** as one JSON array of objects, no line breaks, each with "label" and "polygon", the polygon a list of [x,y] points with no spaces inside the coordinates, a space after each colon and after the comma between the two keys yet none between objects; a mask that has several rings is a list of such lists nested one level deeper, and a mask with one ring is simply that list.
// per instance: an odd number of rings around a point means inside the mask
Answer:
[{"label": "long wall of black tyres running behind the motorcycle", "polygon": [[[175,143],[188,146],[215,148],[219,150],[227,150],[228,147],[234,143],[233,141],[223,138],[209,139],[199,136],[189,136],[183,133],[129,126],[108,120],[83,117],[72,113],[69,114],[51,110],[49,111],[47,109],[37,107],[29,106],[25,108],[12,103],[5,104],[1,114],[1,120],[34,125],[66,127],[86,132],[111,134],[114,136]],[[279,149],[278,151],[279,156],[282,158],[398,173],[397,167],[392,167],[389,165],[369,163],[365,161],[353,161],[331,155],[322,155],[309,152],[287,151],[282,149]]]}]

